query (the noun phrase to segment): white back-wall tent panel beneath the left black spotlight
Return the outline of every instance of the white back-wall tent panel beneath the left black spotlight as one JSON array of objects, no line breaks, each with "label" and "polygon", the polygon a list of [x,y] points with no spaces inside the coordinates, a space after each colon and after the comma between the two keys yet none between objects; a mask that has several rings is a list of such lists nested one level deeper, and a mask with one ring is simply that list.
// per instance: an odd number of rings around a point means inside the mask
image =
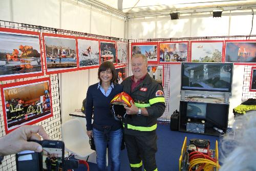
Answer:
[{"label": "white back-wall tent panel beneath the left black spotlight", "polygon": [[157,20],[156,38],[189,37],[190,22],[188,18],[171,20],[170,17]]}]

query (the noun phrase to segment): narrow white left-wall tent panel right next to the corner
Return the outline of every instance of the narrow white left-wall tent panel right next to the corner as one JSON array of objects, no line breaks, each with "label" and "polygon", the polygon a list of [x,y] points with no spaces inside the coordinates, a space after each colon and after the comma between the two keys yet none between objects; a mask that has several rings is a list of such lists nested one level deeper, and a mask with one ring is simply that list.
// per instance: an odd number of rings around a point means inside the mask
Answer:
[{"label": "narrow white left-wall tent panel right next to the corner", "polygon": [[111,16],[111,36],[124,38],[124,20]]}]

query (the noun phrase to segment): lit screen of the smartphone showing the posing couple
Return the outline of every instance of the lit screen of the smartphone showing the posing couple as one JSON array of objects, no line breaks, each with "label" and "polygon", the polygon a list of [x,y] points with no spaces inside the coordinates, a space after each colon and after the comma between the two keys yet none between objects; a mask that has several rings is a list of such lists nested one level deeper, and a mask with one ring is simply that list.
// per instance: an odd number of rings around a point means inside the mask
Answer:
[{"label": "lit screen of the smartphone showing the posing couple", "polygon": [[62,149],[42,148],[42,170],[59,171],[62,170]]}]

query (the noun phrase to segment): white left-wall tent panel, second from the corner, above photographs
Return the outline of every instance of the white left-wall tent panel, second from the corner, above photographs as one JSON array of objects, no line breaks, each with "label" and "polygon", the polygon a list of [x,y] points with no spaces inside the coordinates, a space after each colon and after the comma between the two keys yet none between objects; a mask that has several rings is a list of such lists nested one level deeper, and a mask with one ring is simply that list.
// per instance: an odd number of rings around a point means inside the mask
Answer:
[{"label": "white left-wall tent panel, second from the corner, above photographs", "polygon": [[91,33],[110,36],[111,34],[111,15],[98,10],[92,10]]}]

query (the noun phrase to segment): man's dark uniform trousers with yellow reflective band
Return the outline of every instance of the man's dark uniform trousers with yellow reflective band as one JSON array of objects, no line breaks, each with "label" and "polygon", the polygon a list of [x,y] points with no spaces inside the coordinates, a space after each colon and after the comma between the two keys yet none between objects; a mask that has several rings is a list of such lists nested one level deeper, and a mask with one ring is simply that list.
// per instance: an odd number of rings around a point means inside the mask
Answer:
[{"label": "man's dark uniform trousers with yellow reflective band", "polygon": [[131,170],[141,171],[142,163],[146,171],[157,170],[155,154],[157,152],[157,135],[124,135]]}]

